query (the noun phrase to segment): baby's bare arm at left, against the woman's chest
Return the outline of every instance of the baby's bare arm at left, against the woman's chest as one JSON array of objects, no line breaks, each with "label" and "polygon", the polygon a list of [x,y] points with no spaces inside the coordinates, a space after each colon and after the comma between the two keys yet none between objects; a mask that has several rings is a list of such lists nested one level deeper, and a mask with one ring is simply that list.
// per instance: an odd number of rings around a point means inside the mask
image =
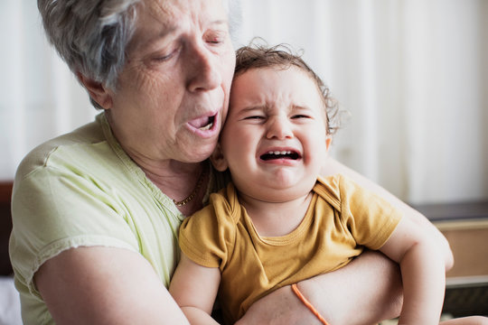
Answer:
[{"label": "baby's bare arm at left, against the woman's chest", "polygon": [[197,265],[182,254],[169,292],[191,324],[218,324],[211,318],[211,310],[220,282],[219,268]]}]

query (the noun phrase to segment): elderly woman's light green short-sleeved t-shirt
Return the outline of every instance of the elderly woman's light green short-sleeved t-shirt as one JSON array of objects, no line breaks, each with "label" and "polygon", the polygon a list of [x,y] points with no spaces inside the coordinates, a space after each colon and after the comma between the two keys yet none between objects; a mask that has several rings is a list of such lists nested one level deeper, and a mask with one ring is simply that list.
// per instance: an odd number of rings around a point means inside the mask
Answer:
[{"label": "elderly woman's light green short-sleeved t-shirt", "polygon": [[153,265],[166,287],[179,260],[184,216],[122,150],[103,113],[24,158],[12,208],[9,249],[25,324],[53,323],[33,274],[66,249],[129,249]]}]

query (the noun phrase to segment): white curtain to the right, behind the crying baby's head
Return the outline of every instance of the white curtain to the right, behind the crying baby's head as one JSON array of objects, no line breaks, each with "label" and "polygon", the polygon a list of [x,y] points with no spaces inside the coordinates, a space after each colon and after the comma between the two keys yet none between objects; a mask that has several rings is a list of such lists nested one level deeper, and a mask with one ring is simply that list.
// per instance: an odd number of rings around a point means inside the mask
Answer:
[{"label": "white curtain to the right, behind the crying baby's head", "polygon": [[304,58],[351,113],[333,155],[411,203],[488,199],[488,1],[245,0],[241,44]]}]

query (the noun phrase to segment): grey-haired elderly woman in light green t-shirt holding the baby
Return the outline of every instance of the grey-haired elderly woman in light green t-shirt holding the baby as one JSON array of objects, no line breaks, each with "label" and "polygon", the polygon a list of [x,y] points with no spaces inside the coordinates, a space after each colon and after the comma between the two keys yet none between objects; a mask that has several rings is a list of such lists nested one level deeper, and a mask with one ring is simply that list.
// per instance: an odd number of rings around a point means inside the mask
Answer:
[{"label": "grey-haired elderly woman in light green t-shirt holding the baby", "polygon": [[[10,254],[23,321],[187,323],[166,288],[179,258],[180,223],[225,183],[206,163],[226,116],[234,69],[225,4],[38,5],[50,41],[102,113],[34,149],[16,174]],[[329,170],[380,190],[332,164]],[[449,265],[444,238],[403,208],[439,237]],[[371,323],[399,312],[399,271],[380,255],[363,255],[299,284],[333,323]],[[273,321],[316,320],[287,287],[239,320]]]}]

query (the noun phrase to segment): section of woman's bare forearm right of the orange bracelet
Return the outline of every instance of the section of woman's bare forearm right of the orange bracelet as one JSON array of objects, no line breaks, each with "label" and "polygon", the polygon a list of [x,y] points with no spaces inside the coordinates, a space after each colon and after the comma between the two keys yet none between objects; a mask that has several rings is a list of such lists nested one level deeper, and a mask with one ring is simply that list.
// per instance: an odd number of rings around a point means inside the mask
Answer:
[{"label": "section of woman's bare forearm right of the orange bracelet", "polygon": [[349,265],[298,283],[331,324],[373,324],[399,316],[403,303],[399,265],[365,251]]}]

